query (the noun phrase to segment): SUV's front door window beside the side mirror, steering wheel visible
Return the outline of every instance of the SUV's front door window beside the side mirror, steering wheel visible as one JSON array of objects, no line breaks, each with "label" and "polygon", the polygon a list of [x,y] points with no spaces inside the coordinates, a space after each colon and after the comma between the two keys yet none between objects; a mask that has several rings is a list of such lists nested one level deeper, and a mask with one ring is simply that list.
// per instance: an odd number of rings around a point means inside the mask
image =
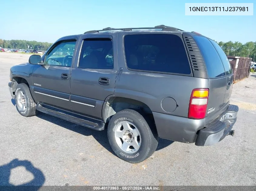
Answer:
[{"label": "SUV's front door window beside the side mirror, steering wheel visible", "polygon": [[58,42],[45,56],[45,65],[70,67],[75,51],[76,40]]}]

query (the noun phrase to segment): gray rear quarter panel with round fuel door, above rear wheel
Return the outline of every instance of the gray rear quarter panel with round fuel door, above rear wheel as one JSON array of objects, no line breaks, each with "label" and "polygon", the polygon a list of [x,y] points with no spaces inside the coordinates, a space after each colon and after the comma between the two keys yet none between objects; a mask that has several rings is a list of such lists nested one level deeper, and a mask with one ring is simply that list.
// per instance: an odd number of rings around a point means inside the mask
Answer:
[{"label": "gray rear quarter panel with round fuel door, above rear wheel", "polygon": [[[207,79],[129,71],[125,66],[123,68],[116,82],[115,96],[141,101],[148,105],[152,112],[187,117],[192,90],[208,88]],[[165,103],[163,100],[167,97],[173,98],[176,106],[171,100],[173,103],[170,105]]]}]

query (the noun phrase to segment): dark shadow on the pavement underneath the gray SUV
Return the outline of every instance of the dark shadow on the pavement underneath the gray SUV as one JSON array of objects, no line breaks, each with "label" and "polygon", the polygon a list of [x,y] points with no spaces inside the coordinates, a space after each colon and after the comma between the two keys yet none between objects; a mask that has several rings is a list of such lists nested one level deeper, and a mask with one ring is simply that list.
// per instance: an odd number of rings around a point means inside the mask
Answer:
[{"label": "dark shadow on the pavement underneath the gray SUV", "polygon": [[[74,123],[65,121],[63,119],[59,119],[57,117],[42,113],[42,112],[38,112],[38,114],[36,115],[37,117],[39,117],[40,119],[44,119],[46,121],[49,121],[51,123],[54,123],[58,126],[64,127],[66,129],[69,129],[71,131],[80,133],[82,135],[85,136],[90,136],[92,135],[96,141],[99,142],[99,144],[101,144],[105,149],[107,149],[109,152],[111,152],[112,154],[115,155],[115,153],[112,151],[109,142],[108,142],[108,137],[107,137],[107,129],[105,128],[103,131],[96,131],[87,127],[83,127],[80,125],[76,125]],[[169,141],[169,140],[165,140],[165,139],[159,139],[158,142],[158,147],[157,147],[157,151],[161,150],[162,148],[165,148],[169,145],[171,145],[171,143],[173,143],[173,141]]]}]

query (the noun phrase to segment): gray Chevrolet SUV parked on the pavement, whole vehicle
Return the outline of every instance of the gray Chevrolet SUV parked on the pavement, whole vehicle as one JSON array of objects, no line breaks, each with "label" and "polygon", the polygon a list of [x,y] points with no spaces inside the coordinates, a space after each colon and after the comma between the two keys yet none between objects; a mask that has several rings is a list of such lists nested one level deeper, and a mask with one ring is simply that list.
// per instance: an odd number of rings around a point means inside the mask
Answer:
[{"label": "gray Chevrolet SUV parked on the pavement, whole vehicle", "polygon": [[231,130],[233,73],[216,42],[159,25],[105,28],[62,37],[44,55],[13,66],[18,112],[36,110],[101,131],[115,154],[138,163],[158,137],[213,145]]}]

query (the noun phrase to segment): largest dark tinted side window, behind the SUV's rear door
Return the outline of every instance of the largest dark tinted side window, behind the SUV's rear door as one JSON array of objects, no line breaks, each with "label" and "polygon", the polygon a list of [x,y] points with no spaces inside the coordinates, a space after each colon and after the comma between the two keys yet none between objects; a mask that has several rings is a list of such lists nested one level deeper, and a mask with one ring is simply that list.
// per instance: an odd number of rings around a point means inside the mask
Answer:
[{"label": "largest dark tinted side window, behind the SUV's rear door", "polygon": [[124,37],[127,67],[133,70],[190,74],[180,37],[172,34],[132,34]]}]

